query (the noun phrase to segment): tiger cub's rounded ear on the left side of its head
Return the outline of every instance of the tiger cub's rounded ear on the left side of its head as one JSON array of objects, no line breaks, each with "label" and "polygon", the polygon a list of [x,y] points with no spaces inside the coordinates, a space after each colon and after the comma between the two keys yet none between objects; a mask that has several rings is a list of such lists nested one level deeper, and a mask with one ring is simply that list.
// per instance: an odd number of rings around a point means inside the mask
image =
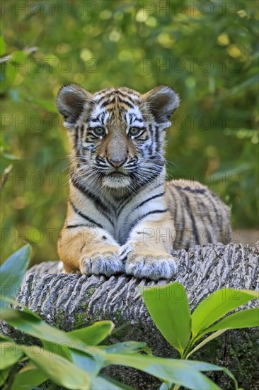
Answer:
[{"label": "tiger cub's rounded ear on the left side of its head", "polygon": [[59,113],[64,116],[64,126],[74,128],[76,121],[92,97],[93,95],[78,84],[67,84],[59,89],[56,104]]}]

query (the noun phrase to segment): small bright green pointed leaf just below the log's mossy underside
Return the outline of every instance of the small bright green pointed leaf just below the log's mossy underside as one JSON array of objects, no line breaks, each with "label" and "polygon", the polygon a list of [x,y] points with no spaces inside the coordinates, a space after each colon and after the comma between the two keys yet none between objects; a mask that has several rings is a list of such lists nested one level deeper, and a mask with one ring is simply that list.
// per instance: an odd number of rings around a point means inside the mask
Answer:
[{"label": "small bright green pointed leaf just below the log's mossy underside", "polygon": [[74,335],[86,344],[97,345],[110,335],[114,328],[112,321],[99,321],[87,328],[81,328],[68,332],[68,335]]}]

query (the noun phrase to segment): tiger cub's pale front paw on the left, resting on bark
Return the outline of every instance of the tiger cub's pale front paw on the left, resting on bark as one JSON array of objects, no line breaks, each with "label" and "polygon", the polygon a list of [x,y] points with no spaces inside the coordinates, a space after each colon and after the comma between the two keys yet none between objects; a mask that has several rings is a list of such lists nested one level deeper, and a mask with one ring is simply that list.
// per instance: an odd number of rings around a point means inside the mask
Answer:
[{"label": "tiger cub's pale front paw on the left, resting on bark", "polygon": [[106,275],[125,273],[125,265],[115,252],[95,252],[91,255],[84,255],[79,260],[81,274]]}]

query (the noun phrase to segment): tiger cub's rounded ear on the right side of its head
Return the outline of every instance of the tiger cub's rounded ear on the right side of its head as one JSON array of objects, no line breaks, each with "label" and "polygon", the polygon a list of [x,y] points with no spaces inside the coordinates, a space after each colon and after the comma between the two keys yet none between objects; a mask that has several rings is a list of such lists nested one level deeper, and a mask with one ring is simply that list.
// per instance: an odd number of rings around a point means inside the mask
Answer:
[{"label": "tiger cub's rounded ear on the right side of its head", "polygon": [[165,127],[171,125],[170,117],[179,106],[179,96],[171,87],[160,85],[142,95],[142,100],[147,103],[149,111],[157,123],[163,123]]}]

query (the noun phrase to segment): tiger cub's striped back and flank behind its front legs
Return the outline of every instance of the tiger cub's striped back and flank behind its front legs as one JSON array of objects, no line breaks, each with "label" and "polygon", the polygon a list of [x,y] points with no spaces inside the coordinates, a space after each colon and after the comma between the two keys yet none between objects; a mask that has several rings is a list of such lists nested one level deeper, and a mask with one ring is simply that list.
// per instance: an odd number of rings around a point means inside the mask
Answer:
[{"label": "tiger cub's striped back and flank behind its front legs", "polygon": [[199,182],[167,182],[166,204],[175,221],[175,249],[231,240],[229,208]]}]

